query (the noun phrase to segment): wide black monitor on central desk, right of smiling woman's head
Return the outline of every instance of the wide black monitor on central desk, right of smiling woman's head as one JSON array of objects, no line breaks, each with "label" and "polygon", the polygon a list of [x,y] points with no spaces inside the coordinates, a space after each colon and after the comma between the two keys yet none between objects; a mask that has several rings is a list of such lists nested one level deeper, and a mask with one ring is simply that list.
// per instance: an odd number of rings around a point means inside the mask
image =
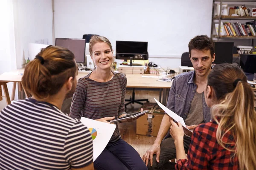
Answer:
[{"label": "wide black monitor on central desk, right of smiling woman's head", "polygon": [[148,59],[148,42],[116,41],[116,59]]}]

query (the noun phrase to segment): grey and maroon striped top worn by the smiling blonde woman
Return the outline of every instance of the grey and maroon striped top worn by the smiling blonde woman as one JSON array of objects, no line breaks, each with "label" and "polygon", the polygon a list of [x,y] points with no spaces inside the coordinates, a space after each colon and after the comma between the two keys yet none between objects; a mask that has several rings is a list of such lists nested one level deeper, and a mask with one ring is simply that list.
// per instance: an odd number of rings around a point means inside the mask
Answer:
[{"label": "grey and maroon striped top worn by the smiling blonde woman", "polygon": [[[70,107],[70,116],[101,119],[112,116],[117,118],[126,114],[126,77],[113,72],[114,76],[110,81],[96,82],[89,78],[90,74],[78,80]],[[110,142],[115,142],[118,139],[120,139],[120,134],[118,126],[116,126]]]}]

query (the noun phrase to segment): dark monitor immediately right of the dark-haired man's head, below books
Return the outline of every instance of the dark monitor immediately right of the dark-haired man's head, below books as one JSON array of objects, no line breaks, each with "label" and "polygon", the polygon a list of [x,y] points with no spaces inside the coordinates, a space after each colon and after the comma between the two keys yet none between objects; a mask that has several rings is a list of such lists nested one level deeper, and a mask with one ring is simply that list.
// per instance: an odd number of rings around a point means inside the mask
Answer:
[{"label": "dark monitor immediately right of the dark-haired man's head, below books", "polygon": [[214,64],[233,62],[234,42],[215,42],[215,60]]}]

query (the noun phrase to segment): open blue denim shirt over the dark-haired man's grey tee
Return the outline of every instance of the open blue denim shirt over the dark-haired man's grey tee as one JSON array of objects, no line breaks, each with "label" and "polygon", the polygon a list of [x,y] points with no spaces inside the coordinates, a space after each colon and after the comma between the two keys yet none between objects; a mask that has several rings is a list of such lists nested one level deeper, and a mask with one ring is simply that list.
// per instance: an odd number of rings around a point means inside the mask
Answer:
[{"label": "open blue denim shirt over the dark-haired man's grey tee", "polygon": [[[182,117],[184,120],[189,113],[192,99],[195,96],[197,85],[193,77],[195,71],[189,71],[175,77],[170,89],[167,108]],[[203,95],[203,114],[204,123],[210,122],[212,119],[210,108],[207,106]]]}]

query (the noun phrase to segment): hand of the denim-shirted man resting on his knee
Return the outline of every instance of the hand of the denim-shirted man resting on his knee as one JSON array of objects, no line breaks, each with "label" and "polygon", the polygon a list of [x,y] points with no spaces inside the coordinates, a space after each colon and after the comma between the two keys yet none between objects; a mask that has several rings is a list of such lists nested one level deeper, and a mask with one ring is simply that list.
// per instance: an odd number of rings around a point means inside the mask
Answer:
[{"label": "hand of the denim-shirted man resting on his knee", "polygon": [[159,163],[160,156],[160,144],[153,144],[146,153],[144,153],[142,160],[145,162],[146,166],[148,166],[148,159],[150,161],[150,166],[153,165],[153,155],[157,155],[157,162]]}]

